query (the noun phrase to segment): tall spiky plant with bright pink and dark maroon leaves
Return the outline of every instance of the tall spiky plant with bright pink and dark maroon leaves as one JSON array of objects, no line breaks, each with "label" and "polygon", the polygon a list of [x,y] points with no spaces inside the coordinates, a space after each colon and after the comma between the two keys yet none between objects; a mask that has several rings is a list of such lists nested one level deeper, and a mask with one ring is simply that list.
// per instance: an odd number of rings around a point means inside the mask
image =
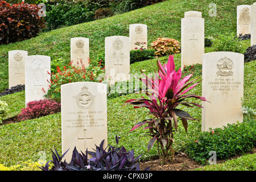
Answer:
[{"label": "tall spiky plant with bright pink and dark maroon leaves", "polygon": [[[171,146],[174,142],[174,131],[177,131],[177,122],[181,121],[187,132],[188,119],[195,120],[184,110],[177,109],[177,106],[181,104],[189,107],[202,107],[199,104],[187,101],[187,99],[193,97],[202,101],[207,100],[205,97],[187,94],[189,90],[199,84],[200,81],[195,83],[199,78],[189,81],[192,77],[192,74],[190,74],[181,79],[181,69],[175,71],[174,56],[169,57],[167,64],[162,66],[158,61],[157,65],[158,73],[155,73],[154,77],[147,77],[141,71],[145,77],[141,78],[141,81],[147,86],[148,99],[142,97],[127,100],[126,103],[135,105],[134,108],[146,107],[150,110],[153,117],[138,122],[130,131],[147,124],[144,129],[149,129],[152,137],[148,142],[147,149],[149,151],[157,141],[159,158],[162,158],[162,162],[165,163],[170,158],[170,151],[172,153],[171,158],[174,156],[174,150]],[[160,154],[160,151],[162,151],[162,154]]]}]

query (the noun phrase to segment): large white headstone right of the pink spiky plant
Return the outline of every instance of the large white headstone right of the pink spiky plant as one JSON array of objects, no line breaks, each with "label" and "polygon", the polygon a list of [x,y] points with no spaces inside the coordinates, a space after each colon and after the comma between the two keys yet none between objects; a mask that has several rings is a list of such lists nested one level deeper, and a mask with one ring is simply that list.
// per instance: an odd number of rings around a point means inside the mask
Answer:
[{"label": "large white headstone right of the pink spiky plant", "polygon": [[210,52],[203,55],[202,131],[243,121],[243,54]]}]

